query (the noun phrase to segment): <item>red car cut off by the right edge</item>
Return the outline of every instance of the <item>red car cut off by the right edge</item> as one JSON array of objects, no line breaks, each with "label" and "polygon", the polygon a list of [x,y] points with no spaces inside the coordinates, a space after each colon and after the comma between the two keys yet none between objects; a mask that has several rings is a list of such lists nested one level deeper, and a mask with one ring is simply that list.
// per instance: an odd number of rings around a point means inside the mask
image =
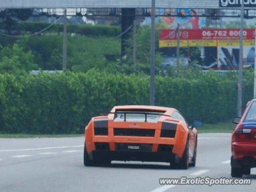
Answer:
[{"label": "red car cut off by the right edge", "polygon": [[250,101],[232,133],[231,176],[250,175],[256,167],[256,99]]}]

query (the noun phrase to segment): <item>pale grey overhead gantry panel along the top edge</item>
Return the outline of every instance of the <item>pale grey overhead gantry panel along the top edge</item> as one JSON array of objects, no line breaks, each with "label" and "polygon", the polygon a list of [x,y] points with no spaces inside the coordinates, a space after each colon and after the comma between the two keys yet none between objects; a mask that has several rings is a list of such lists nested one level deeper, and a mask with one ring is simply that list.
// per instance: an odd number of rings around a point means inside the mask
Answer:
[{"label": "pale grey overhead gantry panel along the top edge", "polygon": [[[218,9],[239,7],[240,0],[156,0],[156,8]],[[246,2],[252,3],[247,6]],[[245,8],[256,5],[245,0]],[[0,0],[0,8],[151,8],[151,0]]]}]

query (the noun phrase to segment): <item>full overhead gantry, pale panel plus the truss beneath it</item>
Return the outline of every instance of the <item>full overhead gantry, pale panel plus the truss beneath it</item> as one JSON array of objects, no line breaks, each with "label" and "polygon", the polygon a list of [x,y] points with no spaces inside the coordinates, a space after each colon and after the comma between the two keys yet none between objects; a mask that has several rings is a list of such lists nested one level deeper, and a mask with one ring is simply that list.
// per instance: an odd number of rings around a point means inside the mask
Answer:
[{"label": "full overhead gantry, pale panel plus the truss beneath it", "polygon": [[[240,5],[234,3],[230,4],[232,2],[239,3],[240,0],[156,0],[156,9],[158,10],[156,16],[182,17],[182,9],[190,8],[197,10],[196,16],[198,17],[240,17]],[[255,4],[254,0],[245,0],[245,2],[253,4],[247,6],[245,4],[244,18],[255,18],[256,1]],[[0,10],[5,8],[39,8],[44,10],[55,10],[54,14],[52,14],[51,11],[42,12],[42,14],[47,16],[63,15],[64,9],[70,8],[67,16],[120,17],[122,15],[122,8],[135,8],[135,16],[150,17],[150,7],[151,0],[0,0]],[[177,10],[180,10],[180,12],[174,13],[170,8],[176,8]],[[81,9],[84,11],[79,12],[78,10]],[[95,12],[95,10],[97,10],[97,12]],[[126,16],[129,16],[129,14],[127,13]],[[132,14],[132,16],[134,16],[134,14]]]}]

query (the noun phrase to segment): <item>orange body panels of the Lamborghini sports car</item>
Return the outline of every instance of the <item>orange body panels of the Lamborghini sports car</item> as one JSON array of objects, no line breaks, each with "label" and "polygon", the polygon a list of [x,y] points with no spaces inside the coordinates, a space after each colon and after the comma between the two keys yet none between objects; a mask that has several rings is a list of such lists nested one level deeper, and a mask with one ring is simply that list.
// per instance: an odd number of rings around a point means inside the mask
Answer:
[{"label": "orange body panels of the Lamborghini sports car", "polygon": [[[116,110],[154,110],[165,112],[165,115],[172,115],[177,111],[174,108],[156,107],[156,106],[116,106],[111,112]],[[98,119],[108,119],[108,136],[96,136],[94,134],[94,121]],[[175,138],[161,138],[162,122],[174,122],[177,124]],[[154,137],[147,136],[114,136],[114,128],[139,128],[155,130]],[[190,132],[190,133],[189,133]],[[152,152],[157,152],[159,144],[173,145],[172,153],[182,157],[189,134],[197,135],[196,129],[190,130],[186,122],[173,119],[168,116],[160,116],[157,123],[152,122],[114,122],[114,114],[108,116],[98,116],[92,118],[85,128],[85,141],[88,154],[96,149],[95,142],[106,142],[110,144],[110,150],[115,150],[115,143],[127,144],[152,144]],[[189,142],[189,148],[194,148],[195,142]],[[171,152],[171,151],[170,151]],[[190,155],[191,156],[191,155]]]}]

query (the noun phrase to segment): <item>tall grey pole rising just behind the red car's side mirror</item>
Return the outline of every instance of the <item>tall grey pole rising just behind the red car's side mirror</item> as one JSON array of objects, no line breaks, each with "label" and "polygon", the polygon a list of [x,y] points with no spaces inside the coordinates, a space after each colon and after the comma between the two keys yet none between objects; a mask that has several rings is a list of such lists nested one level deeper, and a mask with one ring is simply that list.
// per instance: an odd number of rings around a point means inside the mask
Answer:
[{"label": "tall grey pole rising just behind the red car's side mirror", "polygon": [[243,48],[244,48],[244,0],[241,0],[241,27],[240,27],[240,52],[239,52],[239,75],[238,75],[238,112],[242,116],[242,79],[243,79]]}]

